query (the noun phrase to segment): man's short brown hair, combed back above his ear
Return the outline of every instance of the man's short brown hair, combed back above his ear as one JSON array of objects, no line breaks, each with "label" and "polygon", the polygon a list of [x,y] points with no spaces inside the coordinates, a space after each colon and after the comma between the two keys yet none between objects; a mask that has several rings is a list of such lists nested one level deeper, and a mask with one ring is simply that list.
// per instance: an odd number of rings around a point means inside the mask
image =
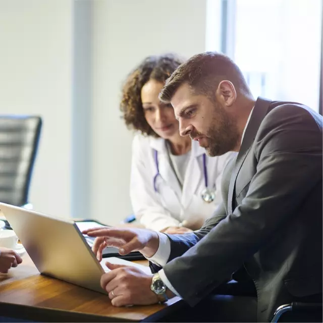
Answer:
[{"label": "man's short brown hair, combed back above his ear", "polygon": [[166,81],[159,99],[169,103],[183,83],[187,83],[195,94],[205,94],[214,98],[215,91],[223,80],[232,82],[238,93],[251,94],[241,70],[229,57],[218,52],[206,51],[192,56],[176,69]]}]

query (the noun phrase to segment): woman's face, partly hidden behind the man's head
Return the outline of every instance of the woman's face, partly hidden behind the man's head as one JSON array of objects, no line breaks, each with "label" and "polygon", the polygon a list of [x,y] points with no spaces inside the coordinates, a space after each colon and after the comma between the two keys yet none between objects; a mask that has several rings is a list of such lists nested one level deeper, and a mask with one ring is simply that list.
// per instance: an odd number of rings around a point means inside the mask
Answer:
[{"label": "woman's face, partly hidden behind the man's head", "polygon": [[144,116],[152,130],[161,138],[170,139],[179,134],[179,124],[173,106],[158,99],[163,86],[163,83],[149,80],[141,89],[141,102]]}]

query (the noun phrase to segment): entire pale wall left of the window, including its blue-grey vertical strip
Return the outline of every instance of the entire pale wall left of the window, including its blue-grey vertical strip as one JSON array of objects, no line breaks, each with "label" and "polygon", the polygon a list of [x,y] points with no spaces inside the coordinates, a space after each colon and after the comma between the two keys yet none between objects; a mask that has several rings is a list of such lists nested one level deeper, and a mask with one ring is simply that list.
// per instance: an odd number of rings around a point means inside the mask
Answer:
[{"label": "entire pale wall left of the window, including its blue-grey vertical strip", "polygon": [[122,82],[148,55],[204,51],[205,12],[206,0],[0,0],[1,113],[43,118],[34,209],[110,224],[128,216]]}]

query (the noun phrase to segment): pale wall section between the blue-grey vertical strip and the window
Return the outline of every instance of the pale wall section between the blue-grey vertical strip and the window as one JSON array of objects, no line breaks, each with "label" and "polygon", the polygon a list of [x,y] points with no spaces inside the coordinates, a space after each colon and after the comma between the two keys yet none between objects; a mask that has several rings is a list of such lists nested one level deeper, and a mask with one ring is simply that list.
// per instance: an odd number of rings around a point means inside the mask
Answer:
[{"label": "pale wall section between the blue-grey vertical strip and the window", "polygon": [[206,0],[93,2],[91,217],[116,224],[131,212],[132,134],[120,119],[121,85],[144,57],[205,50]]}]

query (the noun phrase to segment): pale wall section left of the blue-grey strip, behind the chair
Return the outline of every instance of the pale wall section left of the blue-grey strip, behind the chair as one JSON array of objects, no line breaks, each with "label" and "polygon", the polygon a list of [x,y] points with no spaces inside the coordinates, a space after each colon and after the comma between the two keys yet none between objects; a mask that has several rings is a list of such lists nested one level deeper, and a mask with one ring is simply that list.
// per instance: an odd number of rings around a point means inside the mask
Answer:
[{"label": "pale wall section left of the blue-grey strip, behind the chair", "polygon": [[0,113],[43,118],[30,201],[69,216],[72,1],[0,0],[0,48]]}]

